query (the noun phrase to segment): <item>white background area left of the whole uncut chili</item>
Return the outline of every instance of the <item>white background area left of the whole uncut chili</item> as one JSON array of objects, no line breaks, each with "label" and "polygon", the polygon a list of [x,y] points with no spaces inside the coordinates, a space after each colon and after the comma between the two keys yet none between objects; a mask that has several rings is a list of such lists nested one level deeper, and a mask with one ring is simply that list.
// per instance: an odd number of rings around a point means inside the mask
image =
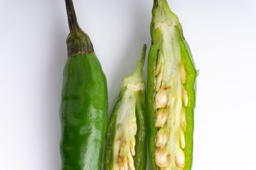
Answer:
[{"label": "white background area left of the whole uncut chili", "polygon": [[0,169],[60,170],[64,0],[1,1]]}]

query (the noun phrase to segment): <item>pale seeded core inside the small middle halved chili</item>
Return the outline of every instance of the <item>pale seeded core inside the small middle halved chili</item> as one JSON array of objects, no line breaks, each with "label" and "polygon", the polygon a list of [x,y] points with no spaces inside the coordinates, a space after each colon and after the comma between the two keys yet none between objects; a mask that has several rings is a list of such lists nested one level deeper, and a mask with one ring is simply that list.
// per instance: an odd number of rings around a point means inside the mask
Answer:
[{"label": "pale seeded core inside the small middle halved chili", "polygon": [[143,90],[145,86],[133,83],[123,86],[125,90],[117,109],[113,170],[135,170],[136,98],[138,90]]}]

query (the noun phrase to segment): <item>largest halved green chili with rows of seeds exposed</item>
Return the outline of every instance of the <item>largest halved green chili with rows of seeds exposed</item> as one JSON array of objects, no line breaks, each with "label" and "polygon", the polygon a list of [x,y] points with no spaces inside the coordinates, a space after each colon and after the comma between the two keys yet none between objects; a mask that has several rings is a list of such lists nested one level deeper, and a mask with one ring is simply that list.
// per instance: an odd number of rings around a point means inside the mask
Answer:
[{"label": "largest halved green chili with rows of seeds exposed", "polygon": [[196,77],[192,54],[166,0],[154,0],[148,58],[152,170],[191,170]]}]

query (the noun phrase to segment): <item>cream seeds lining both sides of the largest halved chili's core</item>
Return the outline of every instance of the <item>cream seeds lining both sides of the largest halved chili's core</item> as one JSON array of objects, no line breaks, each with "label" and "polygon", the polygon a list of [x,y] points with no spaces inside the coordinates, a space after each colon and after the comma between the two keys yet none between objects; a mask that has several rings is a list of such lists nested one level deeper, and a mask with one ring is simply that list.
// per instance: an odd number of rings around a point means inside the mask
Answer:
[{"label": "cream seeds lining both sides of the largest halved chili's core", "polygon": [[171,156],[175,157],[176,170],[183,170],[185,168],[185,153],[183,149],[186,146],[185,143],[185,135],[186,132],[186,107],[188,106],[188,92],[185,88],[185,84],[187,82],[187,75],[185,66],[183,63],[179,66],[180,72],[180,81],[182,84],[181,89],[181,98],[182,98],[182,107],[179,114],[179,128],[178,128],[178,137],[179,137],[179,147],[176,153],[168,152],[166,148],[166,143],[170,138],[170,128],[168,128],[166,121],[170,115],[170,108],[168,105],[168,93],[167,89],[171,87],[162,86],[162,78],[163,78],[163,64],[161,62],[157,63],[156,68],[156,108],[157,108],[157,119],[156,126],[158,127],[158,136],[156,141],[156,151],[155,151],[155,160],[156,164],[159,167],[159,170],[164,170],[171,162]]}]

